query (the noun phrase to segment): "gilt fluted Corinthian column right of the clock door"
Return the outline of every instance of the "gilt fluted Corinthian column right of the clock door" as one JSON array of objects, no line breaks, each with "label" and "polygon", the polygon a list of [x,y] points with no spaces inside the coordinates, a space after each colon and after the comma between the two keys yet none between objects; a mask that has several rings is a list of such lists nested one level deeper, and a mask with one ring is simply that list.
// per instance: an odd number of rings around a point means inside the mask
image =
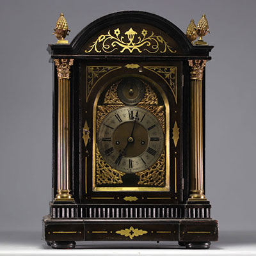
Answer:
[{"label": "gilt fluted Corinthian column right of the clock door", "polygon": [[190,195],[188,200],[206,200],[204,195],[203,93],[206,60],[189,60],[191,67]]}]

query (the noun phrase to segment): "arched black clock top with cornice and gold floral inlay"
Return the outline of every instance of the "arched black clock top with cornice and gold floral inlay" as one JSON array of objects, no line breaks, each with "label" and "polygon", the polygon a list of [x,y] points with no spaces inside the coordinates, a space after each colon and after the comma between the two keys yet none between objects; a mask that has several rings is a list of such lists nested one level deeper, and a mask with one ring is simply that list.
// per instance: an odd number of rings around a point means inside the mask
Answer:
[{"label": "arched black clock top with cornice and gold floral inlay", "polygon": [[172,22],[158,15],[116,12],[82,29],[66,45],[49,45],[49,52],[78,56],[209,56],[212,46],[196,47]]}]

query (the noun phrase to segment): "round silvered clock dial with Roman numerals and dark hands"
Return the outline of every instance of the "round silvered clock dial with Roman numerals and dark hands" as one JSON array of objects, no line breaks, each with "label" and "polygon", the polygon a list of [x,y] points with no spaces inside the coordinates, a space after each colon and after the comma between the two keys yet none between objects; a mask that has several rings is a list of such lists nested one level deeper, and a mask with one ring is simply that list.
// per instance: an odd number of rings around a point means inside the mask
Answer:
[{"label": "round silvered clock dial with Roman numerals and dark hands", "polygon": [[137,106],[125,106],[104,118],[97,144],[100,154],[112,168],[136,173],[156,163],[163,151],[164,134],[152,113]]}]

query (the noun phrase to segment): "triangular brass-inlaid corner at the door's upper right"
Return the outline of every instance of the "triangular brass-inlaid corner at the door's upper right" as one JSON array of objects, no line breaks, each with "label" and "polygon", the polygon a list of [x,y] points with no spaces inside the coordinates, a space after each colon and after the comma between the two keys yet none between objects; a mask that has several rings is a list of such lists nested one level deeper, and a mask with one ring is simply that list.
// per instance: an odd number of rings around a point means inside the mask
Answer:
[{"label": "triangular brass-inlaid corner at the door's upper right", "polygon": [[177,104],[177,67],[144,67],[161,77],[172,91],[175,103]]}]

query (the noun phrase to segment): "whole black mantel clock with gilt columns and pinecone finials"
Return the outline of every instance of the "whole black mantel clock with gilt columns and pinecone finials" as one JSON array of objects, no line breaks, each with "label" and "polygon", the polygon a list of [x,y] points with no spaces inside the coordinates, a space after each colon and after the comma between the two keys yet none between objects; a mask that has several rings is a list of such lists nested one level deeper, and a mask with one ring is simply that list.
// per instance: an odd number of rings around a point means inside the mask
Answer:
[{"label": "whole black mantel clock with gilt columns and pinecone finials", "polygon": [[95,20],[68,44],[61,13],[58,42],[48,48],[53,183],[43,226],[52,248],[217,241],[204,192],[208,31],[205,15],[185,35],[162,17],[125,11]]}]

